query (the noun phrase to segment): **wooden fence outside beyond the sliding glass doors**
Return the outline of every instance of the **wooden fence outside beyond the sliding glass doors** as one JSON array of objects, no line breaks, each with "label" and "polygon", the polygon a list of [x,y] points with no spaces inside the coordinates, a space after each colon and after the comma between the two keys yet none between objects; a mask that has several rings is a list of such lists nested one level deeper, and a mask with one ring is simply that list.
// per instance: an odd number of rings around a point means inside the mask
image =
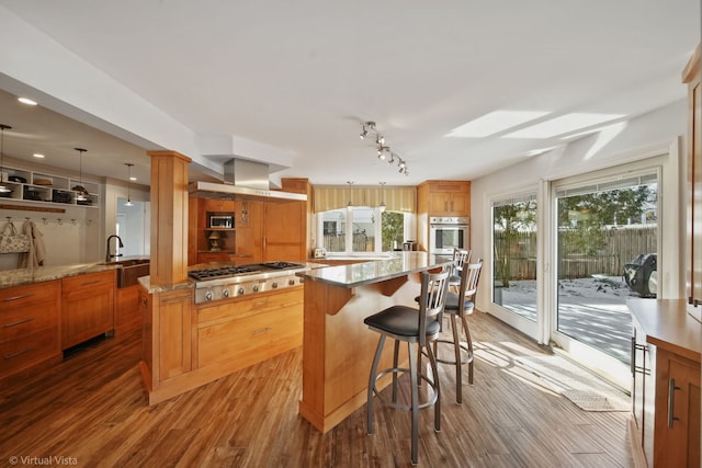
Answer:
[{"label": "wooden fence outside beyond the sliding glass doors", "polygon": [[[595,274],[621,276],[622,269],[639,253],[657,251],[656,226],[605,229],[599,231],[602,248],[587,252],[587,236],[576,230],[564,230],[558,236],[558,278],[582,278]],[[592,236],[593,239],[597,236]],[[536,232],[511,233],[506,242],[503,235],[495,236],[495,256],[502,259],[507,252],[510,279],[536,278]],[[496,274],[499,273],[496,272]]]}]

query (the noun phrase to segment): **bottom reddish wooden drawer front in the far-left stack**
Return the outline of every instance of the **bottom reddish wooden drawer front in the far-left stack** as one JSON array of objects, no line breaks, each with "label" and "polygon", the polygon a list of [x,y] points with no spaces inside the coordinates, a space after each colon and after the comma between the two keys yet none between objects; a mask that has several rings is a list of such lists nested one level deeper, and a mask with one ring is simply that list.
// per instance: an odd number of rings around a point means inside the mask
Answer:
[{"label": "bottom reddish wooden drawer front in the far-left stack", "polygon": [[54,356],[60,356],[58,327],[0,343],[0,376],[14,374]]}]

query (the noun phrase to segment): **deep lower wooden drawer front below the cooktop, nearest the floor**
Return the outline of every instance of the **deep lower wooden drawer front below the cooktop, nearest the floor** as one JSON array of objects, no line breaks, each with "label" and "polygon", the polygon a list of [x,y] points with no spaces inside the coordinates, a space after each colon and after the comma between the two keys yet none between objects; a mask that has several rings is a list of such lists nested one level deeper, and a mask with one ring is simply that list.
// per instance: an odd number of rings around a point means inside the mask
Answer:
[{"label": "deep lower wooden drawer front below the cooktop, nearest the floor", "polygon": [[199,367],[227,362],[242,368],[303,343],[303,311],[272,310],[201,328]]}]

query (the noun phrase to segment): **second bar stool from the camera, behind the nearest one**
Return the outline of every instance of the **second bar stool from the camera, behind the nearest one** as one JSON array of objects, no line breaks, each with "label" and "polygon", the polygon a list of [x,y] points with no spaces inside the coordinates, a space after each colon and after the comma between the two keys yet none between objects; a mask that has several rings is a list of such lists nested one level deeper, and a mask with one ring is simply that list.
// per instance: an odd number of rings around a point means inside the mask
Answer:
[{"label": "second bar stool from the camera, behind the nearest one", "polygon": [[[471,339],[471,329],[468,328],[466,317],[473,313],[475,309],[475,294],[478,288],[482,270],[483,259],[478,260],[477,263],[468,263],[463,266],[458,294],[450,292],[446,295],[446,304],[444,306],[453,340],[439,339],[433,343],[437,362],[451,364],[456,367],[456,404],[463,404],[463,364],[468,365],[468,384],[473,385],[473,340]],[[463,335],[458,331],[458,328],[461,328]],[[465,345],[461,342],[462,338],[465,338]],[[453,361],[438,357],[439,343],[451,344],[453,346]]]}]

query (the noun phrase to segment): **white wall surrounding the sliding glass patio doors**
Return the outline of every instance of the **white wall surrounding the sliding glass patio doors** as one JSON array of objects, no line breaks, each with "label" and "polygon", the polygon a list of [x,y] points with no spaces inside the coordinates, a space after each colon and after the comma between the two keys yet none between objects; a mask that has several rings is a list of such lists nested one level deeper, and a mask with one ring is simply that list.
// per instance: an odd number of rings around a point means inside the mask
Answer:
[{"label": "white wall surrounding the sliding glass patio doors", "polygon": [[[531,190],[537,193],[542,181],[555,181],[566,176],[585,174],[596,170],[612,168],[623,163],[641,161],[660,155],[668,155],[669,148],[679,136],[687,132],[687,100],[680,100],[657,111],[629,121],[625,125],[600,132],[591,136],[573,141],[564,148],[540,155],[525,160],[522,163],[489,174],[471,184],[472,231],[471,246],[473,258],[486,260],[485,272],[482,277],[477,295],[477,308],[488,310],[490,304],[490,281],[492,269],[489,263],[491,250],[490,229],[490,197],[509,192],[524,192]],[[681,161],[684,158],[681,156]],[[684,187],[684,163],[679,163],[677,157],[667,157],[664,163],[664,180],[661,183],[661,196],[667,201],[664,210],[678,214],[682,203],[681,191]],[[677,180],[678,183],[670,181]],[[669,181],[666,183],[666,181]],[[678,242],[665,242],[661,248],[661,258],[669,260],[659,265],[659,277],[667,278],[671,284],[669,297],[675,292],[672,283],[680,277],[680,269],[684,262],[675,262],[671,259],[680,259],[681,252],[678,246],[684,237],[684,222],[661,222],[661,237],[664,239],[678,240]],[[677,265],[678,271],[670,272]],[[664,270],[668,269],[668,271]],[[543,272],[540,272],[540,275]]]}]

